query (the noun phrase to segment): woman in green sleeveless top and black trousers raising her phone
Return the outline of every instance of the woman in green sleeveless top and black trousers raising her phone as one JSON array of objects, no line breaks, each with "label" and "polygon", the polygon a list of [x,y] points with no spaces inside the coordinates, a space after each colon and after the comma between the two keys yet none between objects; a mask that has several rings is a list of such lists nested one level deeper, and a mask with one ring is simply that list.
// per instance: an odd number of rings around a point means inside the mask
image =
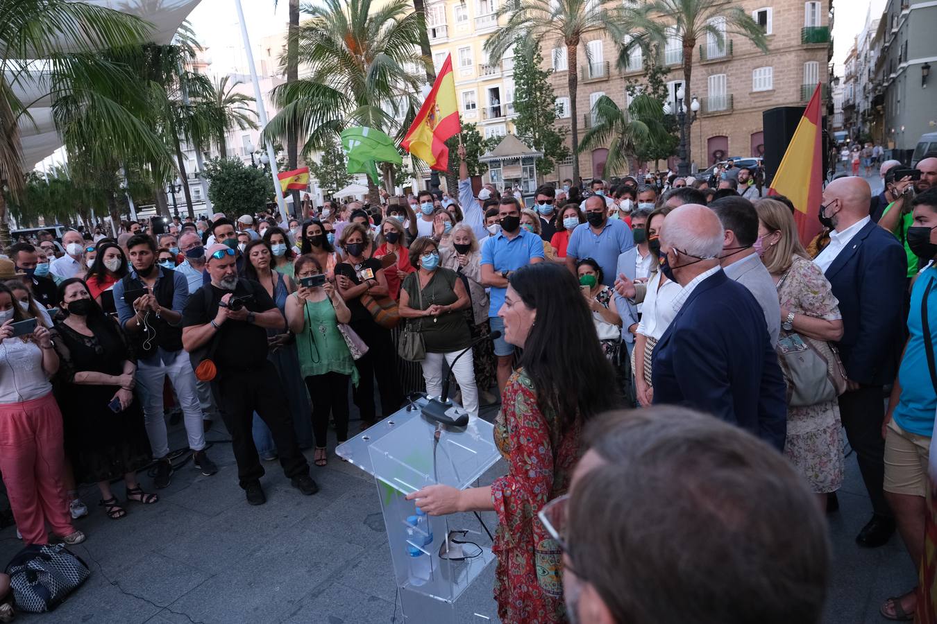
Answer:
[{"label": "woman in green sleeveless top and black trousers raising her phone", "polygon": [[[294,263],[296,281],[322,274],[319,260],[301,255]],[[358,370],[339,323],[348,323],[351,312],[332,283],[303,286],[288,299],[287,326],[296,335],[300,373],[312,397],[312,428],[316,434],[313,461],[328,461],[329,415],[335,418],[335,437],[343,443],[349,437],[349,381],[358,385]]]}]

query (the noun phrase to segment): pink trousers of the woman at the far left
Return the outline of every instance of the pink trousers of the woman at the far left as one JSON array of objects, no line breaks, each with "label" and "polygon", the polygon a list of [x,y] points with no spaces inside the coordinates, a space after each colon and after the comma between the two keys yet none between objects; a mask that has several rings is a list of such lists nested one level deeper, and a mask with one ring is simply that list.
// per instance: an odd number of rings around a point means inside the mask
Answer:
[{"label": "pink trousers of the woman at the far left", "polygon": [[68,514],[62,413],[50,392],[40,399],[0,405],[0,472],[17,529],[26,544],[48,544],[75,529]]}]

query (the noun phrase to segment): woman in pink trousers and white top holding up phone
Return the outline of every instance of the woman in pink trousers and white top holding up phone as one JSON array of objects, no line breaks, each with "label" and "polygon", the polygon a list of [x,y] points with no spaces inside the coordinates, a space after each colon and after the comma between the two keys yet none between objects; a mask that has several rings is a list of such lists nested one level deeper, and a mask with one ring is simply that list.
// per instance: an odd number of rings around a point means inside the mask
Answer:
[{"label": "woman in pink trousers and white top holding up phone", "polygon": [[49,544],[48,524],[66,544],[81,544],[84,533],[68,515],[62,413],[49,381],[59,358],[49,329],[15,335],[25,320],[0,284],[0,472],[23,542]]}]

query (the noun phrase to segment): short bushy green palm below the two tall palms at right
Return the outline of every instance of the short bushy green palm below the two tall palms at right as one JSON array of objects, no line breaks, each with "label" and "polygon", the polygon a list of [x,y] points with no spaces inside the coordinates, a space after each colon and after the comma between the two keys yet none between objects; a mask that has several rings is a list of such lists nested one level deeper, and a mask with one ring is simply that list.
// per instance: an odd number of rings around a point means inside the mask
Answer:
[{"label": "short bushy green palm below the two tall palms at right", "polygon": [[592,109],[594,122],[583,136],[579,151],[608,146],[602,177],[628,170],[636,145],[643,141],[662,141],[668,133],[663,124],[660,100],[648,94],[636,96],[627,109],[620,109],[608,95],[602,95]]}]

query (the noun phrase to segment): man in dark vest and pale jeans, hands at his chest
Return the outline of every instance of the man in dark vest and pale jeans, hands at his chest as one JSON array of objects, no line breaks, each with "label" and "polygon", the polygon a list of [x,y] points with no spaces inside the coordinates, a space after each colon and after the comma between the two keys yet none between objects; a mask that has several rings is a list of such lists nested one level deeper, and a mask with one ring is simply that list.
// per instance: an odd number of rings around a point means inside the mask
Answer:
[{"label": "man in dark vest and pale jeans, hands at his chest", "polygon": [[113,287],[114,307],[120,325],[133,342],[137,354],[137,385],[140,388],[146,435],[156,458],[157,489],[170,485],[172,464],[163,416],[163,384],[169,377],[182,407],[192,463],[202,474],[218,472],[205,454],[205,432],[195,373],[182,353],[182,311],[188,298],[186,277],[171,268],[156,265],[156,241],[138,234],[127,240],[130,271]]}]

